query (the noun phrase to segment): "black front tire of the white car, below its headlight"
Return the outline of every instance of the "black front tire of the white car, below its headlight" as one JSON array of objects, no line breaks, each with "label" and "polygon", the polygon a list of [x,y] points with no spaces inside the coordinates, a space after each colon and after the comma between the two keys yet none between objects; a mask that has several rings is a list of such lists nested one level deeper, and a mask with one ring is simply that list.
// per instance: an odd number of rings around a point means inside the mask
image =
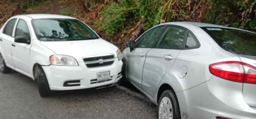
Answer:
[{"label": "black front tire of the white car, below its headlight", "polygon": [[37,76],[38,76],[38,79],[37,79],[38,90],[39,90],[40,96],[42,98],[50,96],[52,94],[52,91],[49,87],[44,70],[40,66],[38,67]]}]

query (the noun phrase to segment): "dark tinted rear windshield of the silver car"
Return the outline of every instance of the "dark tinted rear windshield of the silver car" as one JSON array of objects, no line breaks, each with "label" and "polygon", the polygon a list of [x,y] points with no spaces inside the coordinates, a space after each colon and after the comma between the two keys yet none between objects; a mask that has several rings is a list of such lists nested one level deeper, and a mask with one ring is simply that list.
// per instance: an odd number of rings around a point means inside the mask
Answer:
[{"label": "dark tinted rear windshield of the silver car", "polygon": [[223,49],[244,55],[256,56],[256,34],[243,30],[202,27]]}]

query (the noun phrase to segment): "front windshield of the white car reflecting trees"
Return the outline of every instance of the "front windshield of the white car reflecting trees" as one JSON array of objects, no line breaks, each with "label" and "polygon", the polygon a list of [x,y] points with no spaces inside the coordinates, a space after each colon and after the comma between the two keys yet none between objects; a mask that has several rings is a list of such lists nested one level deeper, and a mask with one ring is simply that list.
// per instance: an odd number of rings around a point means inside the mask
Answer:
[{"label": "front windshield of the white car reflecting trees", "polygon": [[99,37],[76,19],[34,19],[33,28],[41,41],[88,40]]}]

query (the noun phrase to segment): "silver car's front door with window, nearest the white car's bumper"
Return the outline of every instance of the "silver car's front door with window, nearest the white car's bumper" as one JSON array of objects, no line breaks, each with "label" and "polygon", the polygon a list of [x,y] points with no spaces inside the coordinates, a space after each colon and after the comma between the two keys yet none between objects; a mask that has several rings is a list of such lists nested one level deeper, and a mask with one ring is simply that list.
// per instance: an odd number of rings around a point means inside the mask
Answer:
[{"label": "silver car's front door with window, nearest the white car's bumper", "polygon": [[148,30],[136,40],[135,49],[127,53],[127,78],[139,88],[141,88],[142,72],[146,54],[154,46],[164,29],[165,26],[159,26]]}]

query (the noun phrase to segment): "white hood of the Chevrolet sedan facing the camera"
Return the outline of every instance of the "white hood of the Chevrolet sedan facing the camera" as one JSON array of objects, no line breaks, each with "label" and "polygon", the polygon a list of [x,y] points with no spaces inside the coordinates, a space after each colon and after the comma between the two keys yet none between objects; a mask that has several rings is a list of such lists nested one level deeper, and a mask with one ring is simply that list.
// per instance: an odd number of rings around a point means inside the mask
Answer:
[{"label": "white hood of the Chevrolet sedan facing the camera", "polygon": [[76,41],[41,41],[45,47],[58,55],[68,55],[74,57],[78,62],[83,61],[83,57],[94,55],[115,54],[118,49],[111,43],[102,40],[76,40]]}]

